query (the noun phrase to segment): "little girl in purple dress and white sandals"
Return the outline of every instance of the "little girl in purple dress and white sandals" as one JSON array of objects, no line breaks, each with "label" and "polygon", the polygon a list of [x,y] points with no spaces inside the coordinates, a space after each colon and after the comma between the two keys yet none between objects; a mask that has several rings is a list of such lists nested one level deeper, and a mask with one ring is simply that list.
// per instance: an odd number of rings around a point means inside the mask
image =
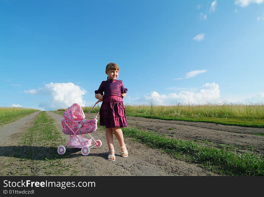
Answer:
[{"label": "little girl in purple dress and white sandals", "polygon": [[119,66],[113,62],[107,64],[105,73],[107,80],[102,81],[98,90],[95,90],[95,98],[103,101],[100,108],[100,126],[106,127],[105,136],[109,148],[107,159],[115,161],[115,150],[113,146],[113,132],[121,148],[121,156],[128,157],[128,151],[124,142],[123,132],[120,128],[127,127],[126,110],[123,98],[128,89],[124,87],[121,80],[116,79],[119,74]]}]

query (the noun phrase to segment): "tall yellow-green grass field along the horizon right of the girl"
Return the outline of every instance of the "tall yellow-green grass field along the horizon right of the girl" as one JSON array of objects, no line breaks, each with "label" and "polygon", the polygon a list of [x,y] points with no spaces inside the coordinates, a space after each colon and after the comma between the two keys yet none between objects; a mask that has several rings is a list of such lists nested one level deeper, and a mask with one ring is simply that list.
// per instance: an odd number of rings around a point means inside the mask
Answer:
[{"label": "tall yellow-green grass field along the horizon right of the girl", "polygon": [[225,125],[264,127],[264,104],[223,104],[154,106],[152,103],[140,106],[125,106],[128,116],[211,122]]}]

